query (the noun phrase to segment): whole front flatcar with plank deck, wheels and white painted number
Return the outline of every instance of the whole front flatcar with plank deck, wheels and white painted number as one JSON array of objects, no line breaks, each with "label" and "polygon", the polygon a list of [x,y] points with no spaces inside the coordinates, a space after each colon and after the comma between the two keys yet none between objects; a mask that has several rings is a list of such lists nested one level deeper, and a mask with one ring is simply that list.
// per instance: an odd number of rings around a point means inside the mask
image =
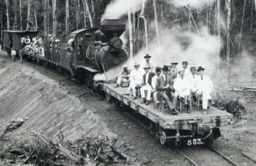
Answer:
[{"label": "whole front flatcar with plank deck, wheels and white painted number", "polygon": [[211,145],[214,138],[221,136],[220,128],[229,124],[233,118],[231,113],[214,107],[210,107],[207,114],[192,109],[191,114],[180,110],[178,116],[173,116],[167,113],[164,103],[160,109],[154,103],[141,104],[139,99],[131,100],[131,97],[123,95],[127,88],[114,86],[115,84],[104,84],[107,99],[113,98],[122,106],[134,109],[145,121],[149,121],[154,126],[156,139],[162,145]]}]

